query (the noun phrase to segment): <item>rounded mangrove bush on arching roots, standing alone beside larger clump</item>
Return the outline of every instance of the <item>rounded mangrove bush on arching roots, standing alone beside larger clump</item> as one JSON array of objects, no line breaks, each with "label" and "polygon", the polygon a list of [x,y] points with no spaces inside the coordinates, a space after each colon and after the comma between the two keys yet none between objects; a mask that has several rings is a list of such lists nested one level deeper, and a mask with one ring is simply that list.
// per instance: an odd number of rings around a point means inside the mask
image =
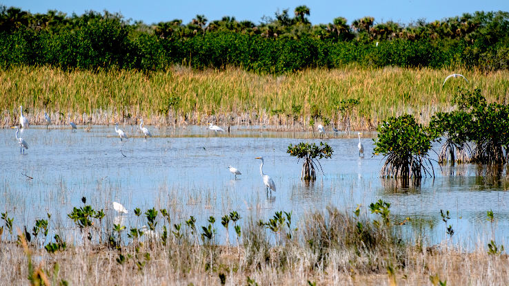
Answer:
[{"label": "rounded mangrove bush on arching roots, standing alone beside larger clump", "polygon": [[432,175],[432,170],[428,170],[432,168],[428,152],[436,132],[417,124],[412,115],[391,117],[378,126],[378,132],[375,154],[387,158],[381,169],[382,177],[419,179],[422,170],[425,175]]}]

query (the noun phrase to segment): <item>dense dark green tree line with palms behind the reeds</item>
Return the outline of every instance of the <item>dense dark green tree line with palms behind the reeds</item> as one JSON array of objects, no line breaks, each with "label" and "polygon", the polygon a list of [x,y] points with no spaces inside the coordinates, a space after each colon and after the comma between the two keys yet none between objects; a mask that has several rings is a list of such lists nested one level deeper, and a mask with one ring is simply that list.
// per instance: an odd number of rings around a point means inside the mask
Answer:
[{"label": "dense dark green tree line with palms behind the reeds", "polygon": [[351,25],[342,17],[311,25],[309,14],[309,8],[299,6],[295,17],[283,10],[259,25],[234,17],[207,25],[208,20],[197,15],[187,25],[176,19],[148,26],[108,12],[68,17],[51,10],[30,14],[4,6],[0,66],[156,70],[179,64],[200,69],[238,66],[266,73],[350,63],[489,70],[509,66],[508,12],[475,12],[406,27],[392,21],[375,23],[372,17]]}]

